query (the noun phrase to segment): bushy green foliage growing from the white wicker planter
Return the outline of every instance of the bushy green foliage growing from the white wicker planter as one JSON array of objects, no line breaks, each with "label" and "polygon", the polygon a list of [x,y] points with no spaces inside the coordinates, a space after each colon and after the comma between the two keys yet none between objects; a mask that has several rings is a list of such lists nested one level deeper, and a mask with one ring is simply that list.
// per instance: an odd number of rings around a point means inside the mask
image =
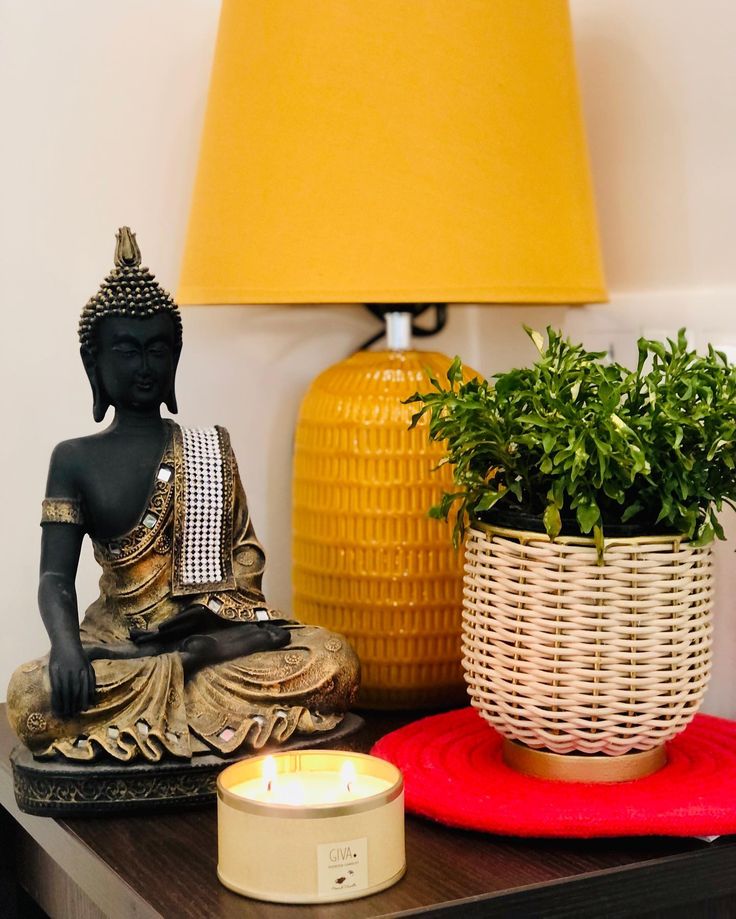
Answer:
[{"label": "bushy green foliage growing from the white wicker planter", "polygon": [[736,370],[725,356],[688,350],[681,330],[667,344],[640,339],[628,370],[553,329],[546,345],[526,331],[540,355],[531,367],[463,382],[456,357],[446,387],[430,376],[431,390],[407,400],[421,404],[412,427],[429,414],[429,437],[446,443],[457,488],[429,513],[454,508],[455,544],[497,504],[538,516],[553,539],[574,516],[599,552],[606,526],[627,522],[722,539],[717,514],[736,500]]}]

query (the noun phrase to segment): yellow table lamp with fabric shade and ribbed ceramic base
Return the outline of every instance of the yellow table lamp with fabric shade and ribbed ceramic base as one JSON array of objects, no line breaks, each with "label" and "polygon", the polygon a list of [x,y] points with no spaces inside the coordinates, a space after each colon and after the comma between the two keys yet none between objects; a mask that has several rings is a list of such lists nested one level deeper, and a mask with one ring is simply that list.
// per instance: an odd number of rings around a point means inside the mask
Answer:
[{"label": "yellow table lamp with fabric shade and ribbed ceramic base", "polygon": [[179,300],[386,317],[294,459],[294,613],[353,642],[364,705],[463,692],[449,471],[401,402],[449,358],[414,317],[605,297],[565,0],[224,0]]}]

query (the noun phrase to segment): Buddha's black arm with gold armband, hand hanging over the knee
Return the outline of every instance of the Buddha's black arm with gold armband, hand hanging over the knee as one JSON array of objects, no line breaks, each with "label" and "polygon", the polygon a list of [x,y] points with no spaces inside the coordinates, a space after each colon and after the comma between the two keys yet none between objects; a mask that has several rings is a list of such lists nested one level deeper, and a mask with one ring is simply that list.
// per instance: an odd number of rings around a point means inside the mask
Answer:
[{"label": "Buddha's black arm with gold armband, hand hanging over the knee", "polygon": [[[81,517],[54,513],[81,506],[70,451],[60,445],[51,457],[44,502],[38,605],[51,641],[49,677],[51,704],[59,715],[71,717],[94,697],[92,665],[82,648],[75,579],[84,538]],[[79,502],[79,503],[77,503]]]}]

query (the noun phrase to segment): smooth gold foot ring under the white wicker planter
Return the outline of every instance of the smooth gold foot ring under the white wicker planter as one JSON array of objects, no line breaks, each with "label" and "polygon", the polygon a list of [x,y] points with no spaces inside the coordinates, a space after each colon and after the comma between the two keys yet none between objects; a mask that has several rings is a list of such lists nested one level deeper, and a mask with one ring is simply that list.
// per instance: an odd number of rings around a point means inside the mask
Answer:
[{"label": "smooth gold foot ring under the white wicker planter", "polygon": [[660,770],[667,763],[664,744],[622,756],[550,753],[514,740],[504,740],[503,761],[511,769],[555,782],[630,782]]}]

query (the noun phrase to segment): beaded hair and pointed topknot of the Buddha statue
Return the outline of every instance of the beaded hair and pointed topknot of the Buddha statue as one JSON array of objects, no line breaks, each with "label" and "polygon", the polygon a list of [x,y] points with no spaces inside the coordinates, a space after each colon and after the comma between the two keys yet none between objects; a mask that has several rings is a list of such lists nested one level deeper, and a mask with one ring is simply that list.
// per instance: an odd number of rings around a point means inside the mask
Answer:
[{"label": "beaded hair and pointed topknot of the Buddha statue", "polygon": [[130,316],[145,319],[168,313],[174,324],[177,352],[181,350],[181,316],[168,291],[156,281],[148,268],[141,267],[141,251],[130,227],[116,233],[115,267],[90,298],[79,320],[82,359],[94,359],[95,329],[105,316]]}]

